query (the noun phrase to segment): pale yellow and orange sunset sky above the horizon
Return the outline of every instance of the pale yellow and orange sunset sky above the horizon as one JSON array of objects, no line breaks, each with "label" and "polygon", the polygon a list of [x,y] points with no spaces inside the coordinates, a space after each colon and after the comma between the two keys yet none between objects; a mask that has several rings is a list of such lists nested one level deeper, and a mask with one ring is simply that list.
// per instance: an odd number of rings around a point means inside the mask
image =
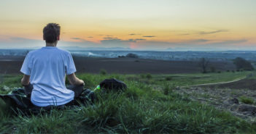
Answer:
[{"label": "pale yellow and orange sunset sky above the horizon", "polygon": [[1,0],[0,49],[58,46],[134,50],[256,50],[255,0]]}]

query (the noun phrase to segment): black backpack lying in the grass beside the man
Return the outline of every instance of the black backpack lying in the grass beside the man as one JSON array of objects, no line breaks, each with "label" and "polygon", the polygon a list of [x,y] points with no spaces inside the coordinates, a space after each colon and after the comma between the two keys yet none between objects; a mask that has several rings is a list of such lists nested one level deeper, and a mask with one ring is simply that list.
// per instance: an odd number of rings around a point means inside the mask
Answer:
[{"label": "black backpack lying in the grass beside the man", "polygon": [[115,78],[103,80],[100,87],[106,91],[125,91],[127,89],[127,85],[123,81]]}]

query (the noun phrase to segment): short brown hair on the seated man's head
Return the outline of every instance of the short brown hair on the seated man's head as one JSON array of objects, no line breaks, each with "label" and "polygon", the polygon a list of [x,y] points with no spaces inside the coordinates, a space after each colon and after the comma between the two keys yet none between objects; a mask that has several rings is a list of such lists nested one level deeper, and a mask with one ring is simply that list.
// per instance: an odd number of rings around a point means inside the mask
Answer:
[{"label": "short brown hair on the seated man's head", "polygon": [[43,34],[46,43],[54,43],[58,40],[61,32],[61,26],[56,23],[49,23],[44,27]]}]

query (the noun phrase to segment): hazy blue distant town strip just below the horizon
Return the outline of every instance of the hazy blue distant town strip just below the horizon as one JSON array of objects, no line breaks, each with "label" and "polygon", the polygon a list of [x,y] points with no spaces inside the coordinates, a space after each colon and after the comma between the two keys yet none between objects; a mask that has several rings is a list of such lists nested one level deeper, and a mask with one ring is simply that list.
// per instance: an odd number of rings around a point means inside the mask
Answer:
[{"label": "hazy blue distant town strip just below the horizon", "polygon": [[[33,49],[0,49],[0,56],[26,56]],[[87,50],[67,49],[74,56],[117,58],[136,54],[140,59],[162,59],[170,61],[196,61],[206,58],[211,61],[230,61],[242,57],[256,62],[256,51],[133,51],[133,50]]]}]

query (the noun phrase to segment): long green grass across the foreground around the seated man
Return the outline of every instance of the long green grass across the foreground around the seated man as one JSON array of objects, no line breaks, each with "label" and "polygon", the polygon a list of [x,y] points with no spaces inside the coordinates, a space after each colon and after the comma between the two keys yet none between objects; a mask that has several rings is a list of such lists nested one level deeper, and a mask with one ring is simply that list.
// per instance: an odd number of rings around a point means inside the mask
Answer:
[{"label": "long green grass across the foreground around the seated man", "polygon": [[[236,73],[230,72],[233,78],[247,72]],[[77,77],[85,81],[86,88],[95,88],[105,78],[117,78],[128,85],[128,90],[123,93],[97,92],[98,99],[92,106],[53,109],[50,113],[32,116],[10,115],[0,105],[0,133],[255,133],[255,125],[171,90],[176,85],[185,85],[183,80],[187,80],[187,84],[208,83],[217,75],[228,80],[223,74],[225,72],[152,75],[150,79],[142,75],[78,74]],[[166,80],[167,77],[171,80]],[[0,85],[9,89],[0,92],[7,93],[19,87],[20,78],[21,75],[4,76]],[[205,78],[208,81],[202,80]],[[162,90],[155,90],[155,85]]]}]

